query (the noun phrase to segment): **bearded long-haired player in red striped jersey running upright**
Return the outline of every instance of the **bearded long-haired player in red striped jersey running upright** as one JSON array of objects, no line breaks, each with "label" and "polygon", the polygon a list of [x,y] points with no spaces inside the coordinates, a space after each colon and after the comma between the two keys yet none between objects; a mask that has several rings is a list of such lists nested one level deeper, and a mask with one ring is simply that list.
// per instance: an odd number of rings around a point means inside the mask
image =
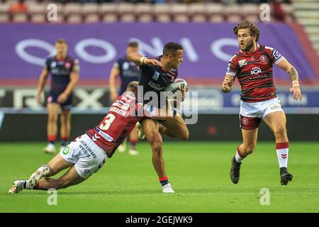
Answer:
[{"label": "bearded long-haired player in red striped jersey running upright", "polygon": [[276,96],[272,78],[272,66],[285,70],[291,79],[293,99],[301,100],[298,72],[278,50],[258,45],[259,28],[250,21],[243,21],[234,28],[240,51],[228,64],[222,84],[223,92],[230,92],[237,77],[242,94],[240,96],[240,127],[243,143],[232,159],[230,179],[234,184],[240,179],[242,160],[250,155],[257,143],[261,120],[272,129],[276,138],[276,153],[279,160],[281,184],[288,184],[293,176],[287,171],[289,140],[286,133],[286,115]]}]

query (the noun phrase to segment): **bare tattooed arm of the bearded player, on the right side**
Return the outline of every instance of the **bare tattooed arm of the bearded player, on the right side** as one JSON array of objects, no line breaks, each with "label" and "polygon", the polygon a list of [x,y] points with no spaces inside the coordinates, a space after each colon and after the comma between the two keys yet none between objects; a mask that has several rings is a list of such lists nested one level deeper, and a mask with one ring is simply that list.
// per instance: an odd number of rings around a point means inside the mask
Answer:
[{"label": "bare tattooed arm of the bearded player, on the right side", "polygon": [[299,75],[295,67],[289,63],[286,58],[281,60],[277,66],[281,68],[281,70],[285,70],[291,79],[291,89],[290,92],[293,93],[293,99],[295,100],[301,100],[302,99],[302,94],[301,94],[301,89],[300,89],[300,84],[299,84]]}]

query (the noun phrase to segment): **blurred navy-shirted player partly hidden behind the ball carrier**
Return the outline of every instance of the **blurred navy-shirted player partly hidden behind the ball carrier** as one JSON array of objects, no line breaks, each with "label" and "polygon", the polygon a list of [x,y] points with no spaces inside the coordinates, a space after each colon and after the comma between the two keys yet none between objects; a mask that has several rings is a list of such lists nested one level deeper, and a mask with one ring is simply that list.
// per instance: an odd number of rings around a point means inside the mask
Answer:
[{"label": "blurred navy-shirted player partly hidden behind the ball carrier", "polygon": [[[111,102],[118,98],[118,94],[123,94],[123,92],[125,92],[125,89],[130,82],[138,81],[140,79],[140,70],[138,66],[128,60],[127,55],[130,52],[138,52],[138,43],[136,41],[130,41],[128,43],[126,55],[120,57],[113,65],[109,79]],[[117,90],[118,79],[121,80],[121,91],[119,93]],[[138,143],[138,127],[133,128],[130,132],[129,140],[130,150],[128,150],[128,153],[130,155],[138,155],[138,151],[136,150],[136,144]],[[118,152],[124,152],[125,148],[126,140],[118,147]]]}]

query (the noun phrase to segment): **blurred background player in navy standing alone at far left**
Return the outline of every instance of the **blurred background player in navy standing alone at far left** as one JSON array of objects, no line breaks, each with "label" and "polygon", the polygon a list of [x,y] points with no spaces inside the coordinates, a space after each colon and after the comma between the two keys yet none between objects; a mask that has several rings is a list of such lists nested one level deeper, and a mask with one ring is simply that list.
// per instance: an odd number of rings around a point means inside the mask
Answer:
[{"label": "blurred background player in navy standing alone at far left", "polygon": [[61,147],[65,148],[71,133],[72,91],[79,79],[79,61],[67,55],[67,42],[64,39],[55,42],[57,55],[48,57],[45,61],[40,79],[36,99],[42,103],[41,93],[47,76],[51,74],[50,94],[47,98],[47,140],[44,148],[46,153],[55,153],[55,140],[57,139],[57,117],[61,111]]}]

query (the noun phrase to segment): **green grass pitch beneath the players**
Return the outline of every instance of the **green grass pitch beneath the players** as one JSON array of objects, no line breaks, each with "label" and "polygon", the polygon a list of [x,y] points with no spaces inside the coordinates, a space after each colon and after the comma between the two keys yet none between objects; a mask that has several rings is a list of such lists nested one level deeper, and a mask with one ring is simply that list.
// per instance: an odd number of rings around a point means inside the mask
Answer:
[{"label": "green grass pitch beneath the players", "polygon": [[[47,205],[45,191],[7,194],[15,179],[28,179],[52,158],[45,143],[1,143],[0,212],[318,212],[319,143],[290,143],[293,181],[279,182],[274,143],[257,143],[242,164],[240,182],[230,182],[230,159],[238,143],[164,142],[164,160],[175,194],[163,194],[147,143],[140,155],[116,153],[91,178],[57,191]],[[269,189],[270,204],[260,204]]]}]

